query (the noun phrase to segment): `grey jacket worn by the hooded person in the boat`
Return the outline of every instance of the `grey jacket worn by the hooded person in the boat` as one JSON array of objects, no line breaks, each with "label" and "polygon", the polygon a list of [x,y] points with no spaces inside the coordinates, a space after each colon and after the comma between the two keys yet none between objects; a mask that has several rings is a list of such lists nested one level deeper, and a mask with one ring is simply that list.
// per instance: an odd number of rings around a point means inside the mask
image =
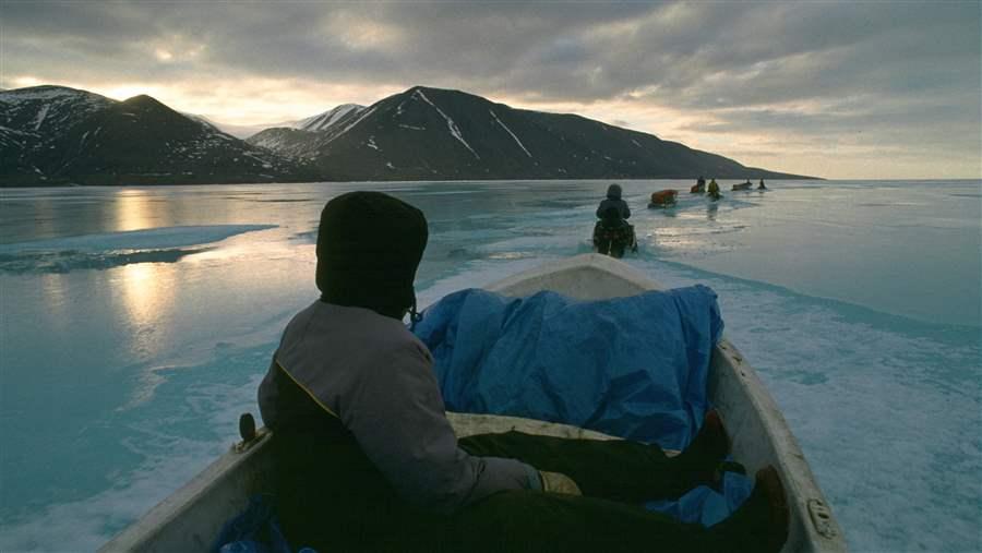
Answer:
[{"label": "grey jacket worn by the hooded person in the boat", "polygon": [[272,375],[278,363],[342,421],[410,503],[454,512],[494,492],[535,488],[538,474],[529,465],[457,447],[432,362],[400,321],[316,301],[284,332],[260,386],[263,420],[276,426]]}]

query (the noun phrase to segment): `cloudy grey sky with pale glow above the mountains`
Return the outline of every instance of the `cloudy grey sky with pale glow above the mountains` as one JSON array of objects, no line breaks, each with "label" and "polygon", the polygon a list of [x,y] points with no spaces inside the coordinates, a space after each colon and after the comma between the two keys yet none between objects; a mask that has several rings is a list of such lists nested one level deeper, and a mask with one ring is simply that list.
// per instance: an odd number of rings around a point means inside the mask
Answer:
[{"label": "cloudy grey sky with pale glow above the mountains", "polygon": [[0,88],[231,124],[412,85],[826,178],[982,178],[982,2],[0,0]]}]

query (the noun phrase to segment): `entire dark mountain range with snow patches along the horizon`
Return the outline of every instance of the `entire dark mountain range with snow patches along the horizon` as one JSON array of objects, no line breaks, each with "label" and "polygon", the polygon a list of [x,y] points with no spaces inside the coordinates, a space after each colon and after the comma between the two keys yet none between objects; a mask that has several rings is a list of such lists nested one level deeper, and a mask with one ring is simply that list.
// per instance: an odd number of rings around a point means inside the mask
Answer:
[{"label": "entire dark mountain range with snow patches along the horizon", "polygon": [[0,185],[813,177],[575,113],[412,86],[241,141],[139,95],[53,85],[0,92]]}]

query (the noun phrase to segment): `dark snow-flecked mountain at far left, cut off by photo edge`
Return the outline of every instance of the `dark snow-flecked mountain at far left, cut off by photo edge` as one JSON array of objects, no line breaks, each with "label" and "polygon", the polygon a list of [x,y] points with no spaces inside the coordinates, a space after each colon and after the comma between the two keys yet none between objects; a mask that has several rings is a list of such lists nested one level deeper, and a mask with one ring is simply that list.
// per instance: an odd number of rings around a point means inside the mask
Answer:
[{"label": "dark snow-flecked mountain at far left, cut off by photo edge", "polygon": [[149,96],[117,101],[38,86],[0,93],[0,185],[270,182],[301,163],[230,136]]}]

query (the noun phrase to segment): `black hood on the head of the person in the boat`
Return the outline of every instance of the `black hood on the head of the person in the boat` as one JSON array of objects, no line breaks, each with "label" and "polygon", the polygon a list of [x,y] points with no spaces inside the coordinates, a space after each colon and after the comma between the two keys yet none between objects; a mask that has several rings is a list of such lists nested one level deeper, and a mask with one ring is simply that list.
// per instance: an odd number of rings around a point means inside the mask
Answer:
[{"label": "black hood on the head of the person in the boat", "polygon": [[402,318],[427,247],[422,212],[381,192],[349,192],[324,206],[318,228],[321,299]]}]

